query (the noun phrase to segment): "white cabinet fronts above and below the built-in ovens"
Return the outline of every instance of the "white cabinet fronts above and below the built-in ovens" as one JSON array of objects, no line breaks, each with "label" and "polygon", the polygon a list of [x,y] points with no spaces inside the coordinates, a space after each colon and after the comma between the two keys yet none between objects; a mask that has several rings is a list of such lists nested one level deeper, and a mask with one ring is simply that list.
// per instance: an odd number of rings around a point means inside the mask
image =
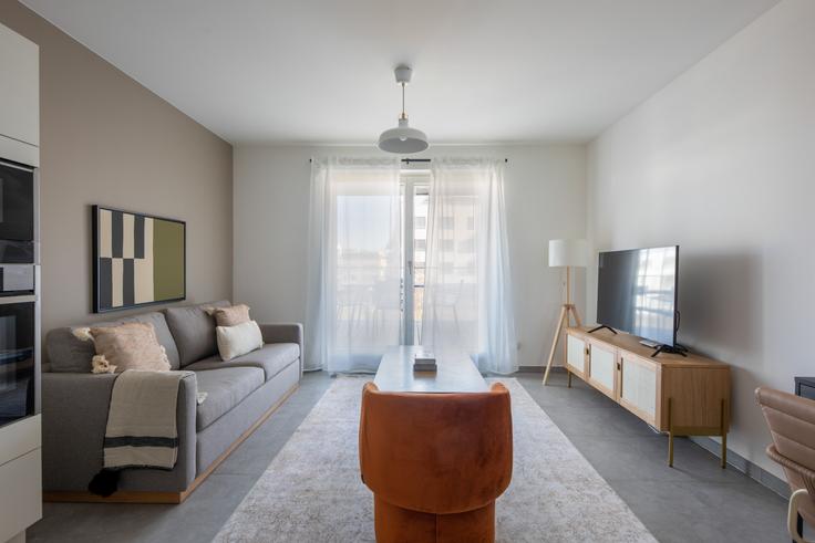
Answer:
[{"label": "white cabinet fronts above and below the built-in ovens", "polygon": [[[0,24],[0,158],[39,167],[39,146],[40,49]],[[40,415],[0,427],[0,542],[42,516],[41,451]]]}]

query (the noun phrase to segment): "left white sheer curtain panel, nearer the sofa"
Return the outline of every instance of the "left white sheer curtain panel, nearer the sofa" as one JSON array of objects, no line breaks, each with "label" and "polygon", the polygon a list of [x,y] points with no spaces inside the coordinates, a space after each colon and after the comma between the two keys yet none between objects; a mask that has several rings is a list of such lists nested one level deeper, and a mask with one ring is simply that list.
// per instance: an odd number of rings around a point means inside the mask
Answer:
[{"label": "left white sheer curtain panel, nearer the sofa", "polygon": [[400,160],[314,158],[306,369],[375,370],[401,337]]}]

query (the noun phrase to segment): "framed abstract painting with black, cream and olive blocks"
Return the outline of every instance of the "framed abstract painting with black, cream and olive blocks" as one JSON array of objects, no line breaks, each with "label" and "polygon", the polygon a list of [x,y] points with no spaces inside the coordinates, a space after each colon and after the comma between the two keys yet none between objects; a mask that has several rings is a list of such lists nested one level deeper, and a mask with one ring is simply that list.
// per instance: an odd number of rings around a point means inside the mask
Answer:
[{"label": "framed abstract painting with black, cream and olive blocks", "polygon": [[93,206],[93,311],[186,297],[186,222]]}]

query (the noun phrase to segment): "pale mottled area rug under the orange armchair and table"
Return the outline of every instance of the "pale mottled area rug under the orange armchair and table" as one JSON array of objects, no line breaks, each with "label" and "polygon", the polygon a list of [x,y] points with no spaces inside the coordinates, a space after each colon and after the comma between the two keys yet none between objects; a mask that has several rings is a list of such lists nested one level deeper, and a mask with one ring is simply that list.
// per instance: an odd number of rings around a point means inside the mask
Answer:
[{"label": "pale mottled area rug under the orange armchair and table", "polygon": [[[215,541],[374,541],[373,494],[360,479],[357,445],[368,380],[336,379]],[[497,541],[656,541],[517,380],[489,380],[509,389],[514,428]]]}]

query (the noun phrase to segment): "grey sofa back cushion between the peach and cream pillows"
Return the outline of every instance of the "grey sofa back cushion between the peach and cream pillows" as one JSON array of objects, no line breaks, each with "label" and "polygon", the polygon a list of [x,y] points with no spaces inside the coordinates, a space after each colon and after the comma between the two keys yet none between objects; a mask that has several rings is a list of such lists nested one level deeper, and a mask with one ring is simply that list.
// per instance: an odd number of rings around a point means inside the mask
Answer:
[{"label": "grey sofa back cushion between the peach and cream pillows", "polygon": [[164,310],[167,326],[178,345],[182,367],[218,352],[218,345],[215,343],[215,317],[206,312],[206,307],[229,305],[228,301],[220,301]]}]

